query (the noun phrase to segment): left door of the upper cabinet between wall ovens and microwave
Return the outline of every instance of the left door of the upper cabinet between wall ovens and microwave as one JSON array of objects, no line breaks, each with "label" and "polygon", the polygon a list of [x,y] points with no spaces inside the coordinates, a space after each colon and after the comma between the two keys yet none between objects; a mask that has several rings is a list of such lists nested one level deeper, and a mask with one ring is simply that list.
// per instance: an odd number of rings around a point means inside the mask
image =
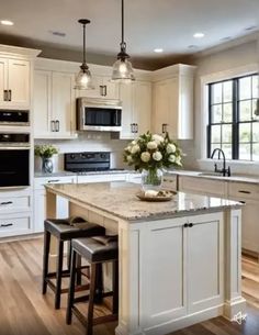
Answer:
[{"label": "left door of the upper cabinet between wall ovens and microwave", "polygon": [[34,71],[34,137],[46,136],[50,133],[50,109],[52,109],[52,72]]}]

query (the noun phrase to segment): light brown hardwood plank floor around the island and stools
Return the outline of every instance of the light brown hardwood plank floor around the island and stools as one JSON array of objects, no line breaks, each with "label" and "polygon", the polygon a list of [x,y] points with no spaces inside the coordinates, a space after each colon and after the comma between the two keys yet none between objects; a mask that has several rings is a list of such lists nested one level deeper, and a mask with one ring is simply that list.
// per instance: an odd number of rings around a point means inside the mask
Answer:
[{"label": "light brown hardwood plank floor around the island and stools", "polygon": [[[66,325],[66,299],[63,298],[61,309],[55,311],[53,293],[41,294],[42,248],[42,238],[0,244],[0,335],[85,334],[75,317],[72,325]],[[258,335],[259,264],[249,257],[243,258],[243,290],[248,317],[241,325],[216,317],[172,334]],[[112,335],[115,326],[114,322],[98,325],[93,334]]]}]

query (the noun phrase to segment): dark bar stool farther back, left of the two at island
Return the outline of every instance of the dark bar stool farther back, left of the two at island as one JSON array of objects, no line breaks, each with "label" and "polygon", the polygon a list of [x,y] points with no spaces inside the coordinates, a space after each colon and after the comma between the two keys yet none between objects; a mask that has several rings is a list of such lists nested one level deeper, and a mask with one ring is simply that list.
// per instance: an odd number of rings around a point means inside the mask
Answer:
[{"label": "dark bar stool farther back, left of the two at island", "polygon": [[[90,222],[82,222],[80,217],[76,217],[75,224],[78,222],[81,227],[76,225],[70,225],[70,219],[47,219],[44,221],[44,255],[43,255],[43,287],[42,293],[45,294],[47,291],[47,286],[55,293],[55,309],[60,309],[60,295],[67,292],[67,290],[61,290],[61,278],[69,277],[70,275],[70,255],[68,261],[68,270],[63,269],[63,258],[64,258],[64,242],[71,242],[72,238],[78,237],[90,237],[94,235],[104,235],[105,228]],[[50,247],[50,236],[55,236],[58,242],[57,252],[57,267],[56,272],[48,272],[48,259],[49,259],[49,247]],[[52,282],[52,279],[56,278],[56,284]]]}]

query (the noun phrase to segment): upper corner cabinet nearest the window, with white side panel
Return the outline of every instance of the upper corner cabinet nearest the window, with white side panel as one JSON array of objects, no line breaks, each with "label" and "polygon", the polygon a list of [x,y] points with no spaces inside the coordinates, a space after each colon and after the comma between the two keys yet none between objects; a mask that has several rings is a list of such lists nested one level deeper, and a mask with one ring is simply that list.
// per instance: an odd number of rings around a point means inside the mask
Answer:
[{"label": "upper corner cabinet nearest the window, with white side panel", "polygon": [[168,132],[176,139],[193,138],[194,69],[179,64],[154,71],[154,132]]}]

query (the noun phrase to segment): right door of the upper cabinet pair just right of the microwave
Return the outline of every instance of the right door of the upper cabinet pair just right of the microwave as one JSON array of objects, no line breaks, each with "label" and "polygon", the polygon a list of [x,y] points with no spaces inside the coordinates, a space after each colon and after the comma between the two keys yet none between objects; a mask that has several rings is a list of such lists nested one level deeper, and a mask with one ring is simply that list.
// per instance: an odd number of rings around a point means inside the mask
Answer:
[{"label": "right door of the upper cabinet pair just right of the microwave", "polygon": [[134,123],[137,124],[137,135],[140,135],[151,126],[151,83],[136,81],[133,85]]}]

